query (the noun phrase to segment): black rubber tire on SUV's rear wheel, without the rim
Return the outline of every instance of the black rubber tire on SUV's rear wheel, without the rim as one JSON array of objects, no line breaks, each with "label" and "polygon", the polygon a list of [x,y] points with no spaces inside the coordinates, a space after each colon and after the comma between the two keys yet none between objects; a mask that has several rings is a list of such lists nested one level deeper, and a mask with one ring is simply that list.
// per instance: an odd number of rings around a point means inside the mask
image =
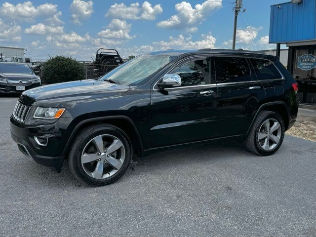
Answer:
[{"label": "black rubber tire on SUV's rear wheel, without the rim", "polygon": [[[263,124],[264,121],[266,121],[267,119],[276,119],[278,121],[278,123],[280,124],[280,138],[279,138],[279,142],[276,145],[275,148],[273,148],[272,150],[264,150],[261,145],[259,144],[259,140],[258,140],[258,135],[259,135],[259,129],[261,127],[261,125]],[[284,126],[284,122],[283,119],[276,114],[275,112],[271,112],[271,111],[261,111],[259,112],[256,120],[254,121],[250,131],[247,134],[246,140],[245,140],[245,145],[246,148],[252,152],[255,153],[257,155],[260,156],[270,156],[274,153],[276,153],[276,151],[280,148],[280,146],[282,145],[283,139],[284,139],[284,132],[285,132],[285,126]]]}]

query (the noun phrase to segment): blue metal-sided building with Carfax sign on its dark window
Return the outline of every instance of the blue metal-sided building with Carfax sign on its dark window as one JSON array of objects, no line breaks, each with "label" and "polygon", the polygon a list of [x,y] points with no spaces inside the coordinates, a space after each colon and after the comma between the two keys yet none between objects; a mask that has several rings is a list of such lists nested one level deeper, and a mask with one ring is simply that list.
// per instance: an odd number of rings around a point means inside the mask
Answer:
[{"label": "blue metal-sided building with Carfax sign on its dark window", "polygon": [[299,83],[300,101],[316,104],[316,0],[271,5],[269,43],[289,47],[287,70]]}]

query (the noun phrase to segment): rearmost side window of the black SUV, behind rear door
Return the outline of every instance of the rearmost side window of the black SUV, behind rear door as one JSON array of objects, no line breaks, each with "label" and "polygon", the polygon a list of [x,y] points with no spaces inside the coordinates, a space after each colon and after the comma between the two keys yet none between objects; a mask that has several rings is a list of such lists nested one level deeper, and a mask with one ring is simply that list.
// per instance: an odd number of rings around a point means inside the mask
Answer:
[{"label": "rearmost side window of the black SUV, behind rear door", "polygon": [[269,60],[250,58],[250,62],[255,70],[258,80],[280,79],[282,76],[277,71],[276,66]]}]

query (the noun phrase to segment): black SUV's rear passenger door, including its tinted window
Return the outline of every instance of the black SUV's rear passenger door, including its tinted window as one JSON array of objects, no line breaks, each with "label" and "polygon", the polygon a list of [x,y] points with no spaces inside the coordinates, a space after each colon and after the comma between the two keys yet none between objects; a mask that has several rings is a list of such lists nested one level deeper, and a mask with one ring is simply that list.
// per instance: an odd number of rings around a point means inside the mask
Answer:
[{"label": "black SUV's rear passenger door, including its tinted window", "polygon": [[266,98],[263,85],[253,75],[246,57],[214,54],[214,63],[217,132],[221,137],[245,134],[253,111]]}]

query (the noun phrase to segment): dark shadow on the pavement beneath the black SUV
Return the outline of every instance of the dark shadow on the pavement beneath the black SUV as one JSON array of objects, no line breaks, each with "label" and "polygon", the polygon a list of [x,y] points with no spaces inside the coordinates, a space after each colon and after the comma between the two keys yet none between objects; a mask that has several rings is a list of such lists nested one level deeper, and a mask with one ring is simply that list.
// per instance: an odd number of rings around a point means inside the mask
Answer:
[{"label": "dark shadow on the pavement beneath the black SUV", "polygon": [[[210,145],[195,146],[185,149],[173,149],[164,152],[155,153],[153,155],[133,158],[130,167],[126,173],[114,184],[121,182],[130,182],[130,179],[138,179],[140,175],[150,175],[150,173],[166,172],[166,167],[169,170],[182,170],[192,167],[192,165],[199,164],[212,165],[212,162],[221,160],[234,159],[234,154],[239,156],[257,157],[249,153],[243,144],[237,142],[215,143]],[[55,173],[47,167],[35,164],[29,161],[25,168],[26,173],[23,174],[23,181],[28,184],[36,184],[38,187],[65,187],[77,186],[87,187],[81,185],[70,173],[67,160],[61,173]],[[198,168],[198,166],[196,167]]]}]

